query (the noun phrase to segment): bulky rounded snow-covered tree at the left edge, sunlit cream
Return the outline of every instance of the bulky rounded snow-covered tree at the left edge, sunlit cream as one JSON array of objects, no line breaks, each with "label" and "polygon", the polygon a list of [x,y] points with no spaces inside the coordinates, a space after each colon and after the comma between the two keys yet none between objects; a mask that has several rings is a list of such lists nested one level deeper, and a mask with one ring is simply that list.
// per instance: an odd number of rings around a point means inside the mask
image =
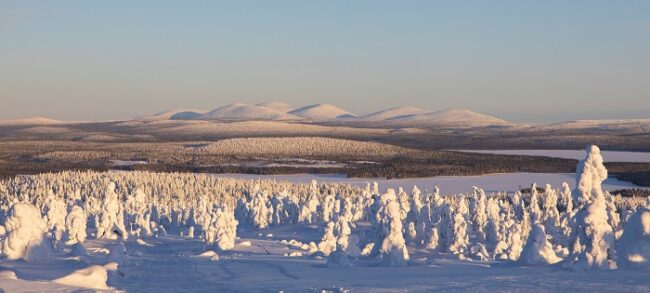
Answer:
[{"label": "bulky rounded snow-covered tree at the left edge, sunlit cream", "polygon": [[26,261],[48,261],[52,246],[45,238],[47,224],[38,209],[28,203],[14,204],[7,214],[4,254],[8,259]]}]

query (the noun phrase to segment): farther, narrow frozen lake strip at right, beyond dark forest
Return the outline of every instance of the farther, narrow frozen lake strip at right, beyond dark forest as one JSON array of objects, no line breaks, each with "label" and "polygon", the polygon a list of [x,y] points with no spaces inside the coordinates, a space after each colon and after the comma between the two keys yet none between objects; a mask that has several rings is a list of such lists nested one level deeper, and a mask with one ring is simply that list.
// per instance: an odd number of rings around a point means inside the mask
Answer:
[{"label": "farther, narrow frozen lake strip at right, beyond dark forest", "polygon": [[[497,154],[497,155],[526,155],[543,156],[563,159],[581,160],[585,158],[584,150],[455,150],[458,152]],[[650,163],[650,153],[601,151],[605,162],[638,162]]]}]

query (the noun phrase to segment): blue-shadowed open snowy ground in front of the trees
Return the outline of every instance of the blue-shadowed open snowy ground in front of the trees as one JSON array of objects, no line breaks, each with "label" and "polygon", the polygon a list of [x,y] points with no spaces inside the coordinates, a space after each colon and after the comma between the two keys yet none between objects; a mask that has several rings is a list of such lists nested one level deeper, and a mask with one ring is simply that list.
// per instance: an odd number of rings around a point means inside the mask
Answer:
[{"label": "blue-shadowed open snowy ground in front of the trees", "polygon": [[[431,255],[410,247],[412,264],[381,266],[380,261],[352,260],[348,268],[327,268],[324,258],[288,257],[301,251],[282,240],[317,241],[315,225],[242,230],[233,250],[220,259],[199,257],[203,242],[170,235],[143,238],[151,246],[126,242],[130,264],[109,272],[108,284],[127,292],[646,292],[648,272],[642,270],[567,272],[554,267],[521,267],[504,262],[461,261],[451,254]],[[273,234],[266,237],[266,234]],[[250,241],[251,245],[241,245]],[[86,243],[84,261],[102,263],[109,241]],[[304,253],[304,251],[303,251]],[[434,261],[427,263],[427,258]],[[6,292],[78,292],[78,287],[47,281],[84,267],[75,258],[59,257],[48,264],[2,261],[0,270],[16,271],[20,280],[2,279]]]}]

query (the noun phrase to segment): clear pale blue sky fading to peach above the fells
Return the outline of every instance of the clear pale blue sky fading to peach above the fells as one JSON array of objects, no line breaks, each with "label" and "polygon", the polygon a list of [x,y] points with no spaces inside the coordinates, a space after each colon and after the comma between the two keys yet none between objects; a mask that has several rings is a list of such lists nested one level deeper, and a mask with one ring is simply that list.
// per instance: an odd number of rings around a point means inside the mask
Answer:
[{"label": "clear pale blue sky fading to peach above the fells", "polygon": [[267,101],[650,118],[650,1],[0,0],[0,119]]}]

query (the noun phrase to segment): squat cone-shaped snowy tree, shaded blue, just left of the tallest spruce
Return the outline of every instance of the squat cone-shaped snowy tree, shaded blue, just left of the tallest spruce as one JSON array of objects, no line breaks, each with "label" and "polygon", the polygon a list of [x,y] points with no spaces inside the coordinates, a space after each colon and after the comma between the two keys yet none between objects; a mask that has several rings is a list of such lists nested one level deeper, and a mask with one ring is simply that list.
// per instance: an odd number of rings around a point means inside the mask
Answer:
[{"label": "squat cone-shaped snowy tree, shaded blue, just left of the tallest spruce", "polygon": [[517,263],[522,265],[549,265],[561,260],[555,255],[553,246],[546,239],[544,226],[537,224],[530,232],[526,246],[524,246]]}]

